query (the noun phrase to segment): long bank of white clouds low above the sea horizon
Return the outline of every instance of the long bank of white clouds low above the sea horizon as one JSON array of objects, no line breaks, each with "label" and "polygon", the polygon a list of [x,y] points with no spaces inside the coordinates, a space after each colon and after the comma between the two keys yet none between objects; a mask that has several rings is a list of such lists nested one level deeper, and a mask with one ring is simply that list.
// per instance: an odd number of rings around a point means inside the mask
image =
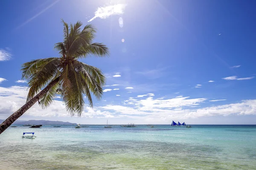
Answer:
[{"label": "long bank of white clouds low above the sea horizon", "polygon": [[[0,87],[0,119],[7,118],[26,103],[27,87],[12,86]],[[174,118],[189,119],[202,116],[256,115],[256,99],[244,100],[228,105],[198,108],[206,98],[190,99],[180,97],[173,99],[146,99],[129,98],[124,105],[103,105],[101,107],[85,107],[82,117],[87,118],[129,118],[138,122],[170,122]],[[128,107],[129,106],[129,107]],[[41,117],[70,117],[61,101],[55,100],[47,109],[41,109],[36,103],[24,116]]]}]

